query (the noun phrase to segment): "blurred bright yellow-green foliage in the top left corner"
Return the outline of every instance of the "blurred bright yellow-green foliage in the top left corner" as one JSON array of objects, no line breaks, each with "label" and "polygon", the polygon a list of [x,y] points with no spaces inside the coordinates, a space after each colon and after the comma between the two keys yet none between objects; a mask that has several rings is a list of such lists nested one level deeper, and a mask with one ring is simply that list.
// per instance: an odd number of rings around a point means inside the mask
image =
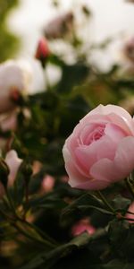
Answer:
[{"label": "blurred bright yellow-green foliage in the top left corner", "polygon": [[8,30],[7,16],[11,9],[19,3],[18,0],[0,0],[0,62],[16,54],[19,48],[19,39]]}]

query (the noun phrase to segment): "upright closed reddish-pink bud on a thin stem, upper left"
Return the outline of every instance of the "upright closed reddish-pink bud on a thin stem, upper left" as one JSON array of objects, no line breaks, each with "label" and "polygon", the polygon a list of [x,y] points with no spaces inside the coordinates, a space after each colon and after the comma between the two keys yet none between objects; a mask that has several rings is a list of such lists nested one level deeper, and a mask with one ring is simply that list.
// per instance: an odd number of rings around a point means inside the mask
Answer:
[{"label": "upright closed reddish-pink bud on a thin stem, upper left", "polygon": [[35,57],[42,61],[46,61],[46,58],[50,55],[50,50],[45,38],[41,38],[38,42],[38,48]]}]

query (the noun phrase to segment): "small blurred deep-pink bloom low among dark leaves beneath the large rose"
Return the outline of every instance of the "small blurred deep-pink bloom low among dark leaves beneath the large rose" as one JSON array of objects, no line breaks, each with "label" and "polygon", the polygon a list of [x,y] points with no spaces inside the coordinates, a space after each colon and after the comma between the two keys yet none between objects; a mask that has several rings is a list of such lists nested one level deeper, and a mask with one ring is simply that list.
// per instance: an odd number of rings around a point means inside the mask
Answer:
[{"label": "small blurred deep-pink bloom low among dark leaves beneath the large rose", "polygon": [[87,231],[90,235],[92,235],[96,231],[96,228],[90,224],[88,219],[78,221],[71,228],[71,234],[73,236],[78,236],[84,231]]}]

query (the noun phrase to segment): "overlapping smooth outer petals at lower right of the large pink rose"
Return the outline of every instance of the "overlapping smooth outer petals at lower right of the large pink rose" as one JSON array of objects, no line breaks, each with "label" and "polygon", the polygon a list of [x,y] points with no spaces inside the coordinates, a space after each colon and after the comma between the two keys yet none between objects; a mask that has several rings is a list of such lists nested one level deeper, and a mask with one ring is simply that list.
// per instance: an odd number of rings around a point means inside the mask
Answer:
[{"label": "overlapping smooth outer petals at lower right of the large pink rose", "polygon": [[129,176],[134,169],[134,137],[125,137],[119,143],[113,161],[102,159],[97,161],[90,169],[90,175],[100,180],[111,182]]}]

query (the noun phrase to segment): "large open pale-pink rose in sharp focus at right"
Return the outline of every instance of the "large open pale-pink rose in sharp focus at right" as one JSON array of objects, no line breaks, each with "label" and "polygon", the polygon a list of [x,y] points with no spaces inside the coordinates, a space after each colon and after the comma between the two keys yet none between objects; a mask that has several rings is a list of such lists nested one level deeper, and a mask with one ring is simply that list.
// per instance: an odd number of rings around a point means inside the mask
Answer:
[{"label": "large open pale-pink rose in sharp focus at right", "polygon": [[99,105],[63,146],[71,187],[103,189],[134,169],[134,119],[121,107]]}]

